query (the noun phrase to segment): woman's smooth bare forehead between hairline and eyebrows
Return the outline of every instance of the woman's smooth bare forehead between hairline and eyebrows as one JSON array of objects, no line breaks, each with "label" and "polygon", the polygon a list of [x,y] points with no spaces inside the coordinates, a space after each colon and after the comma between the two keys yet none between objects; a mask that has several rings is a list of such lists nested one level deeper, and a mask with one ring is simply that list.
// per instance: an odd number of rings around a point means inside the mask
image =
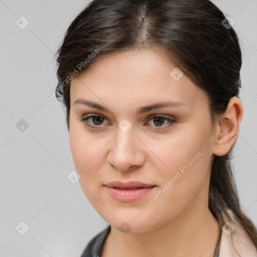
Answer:
[{"label": "woman's smooth bare forehead between hairline and eyebrows", "polygon": [[141,106],[160,100],[185,102],[191,108],[200,107],[203,101],[206,104],[205,92],[185,74],[174,77],[177,71],[166,52],[159,48],[101,56],[71,80],[71,104],[83,96],[97,102],[107,98],[108,103],[130,101],[134,107],[135,103]]}]

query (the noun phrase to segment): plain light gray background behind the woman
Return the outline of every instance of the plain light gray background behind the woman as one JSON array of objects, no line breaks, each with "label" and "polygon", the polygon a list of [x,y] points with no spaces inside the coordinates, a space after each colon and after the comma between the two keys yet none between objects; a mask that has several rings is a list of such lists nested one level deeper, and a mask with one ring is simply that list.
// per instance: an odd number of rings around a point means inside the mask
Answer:
[{"label": "plain light gray background behind the woman", "polygon": [[[0,256],[79,256],[107,226],[79,183],[67,179],[75,167],[65,113],[47,98],[57,85],[53,55],[87,3],[0,0]],[[257,224],[257,1],[213,3],[240,38],[244,111],[232,163],[243,211]],[[21,16],[29,21],[24,30],[16,24]]]}]

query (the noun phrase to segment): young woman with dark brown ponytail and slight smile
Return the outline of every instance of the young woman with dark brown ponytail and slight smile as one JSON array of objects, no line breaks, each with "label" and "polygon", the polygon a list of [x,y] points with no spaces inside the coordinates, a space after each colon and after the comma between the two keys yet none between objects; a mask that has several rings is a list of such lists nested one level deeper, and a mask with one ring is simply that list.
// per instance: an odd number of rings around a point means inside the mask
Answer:
[{"label": "young woman with dark brown ponytail and slight smile", "polygon": [[229,163],[241,51],[207,0],[94,0],[58,50],[80,186],[109,226],[82,256],[257,256]]}]

